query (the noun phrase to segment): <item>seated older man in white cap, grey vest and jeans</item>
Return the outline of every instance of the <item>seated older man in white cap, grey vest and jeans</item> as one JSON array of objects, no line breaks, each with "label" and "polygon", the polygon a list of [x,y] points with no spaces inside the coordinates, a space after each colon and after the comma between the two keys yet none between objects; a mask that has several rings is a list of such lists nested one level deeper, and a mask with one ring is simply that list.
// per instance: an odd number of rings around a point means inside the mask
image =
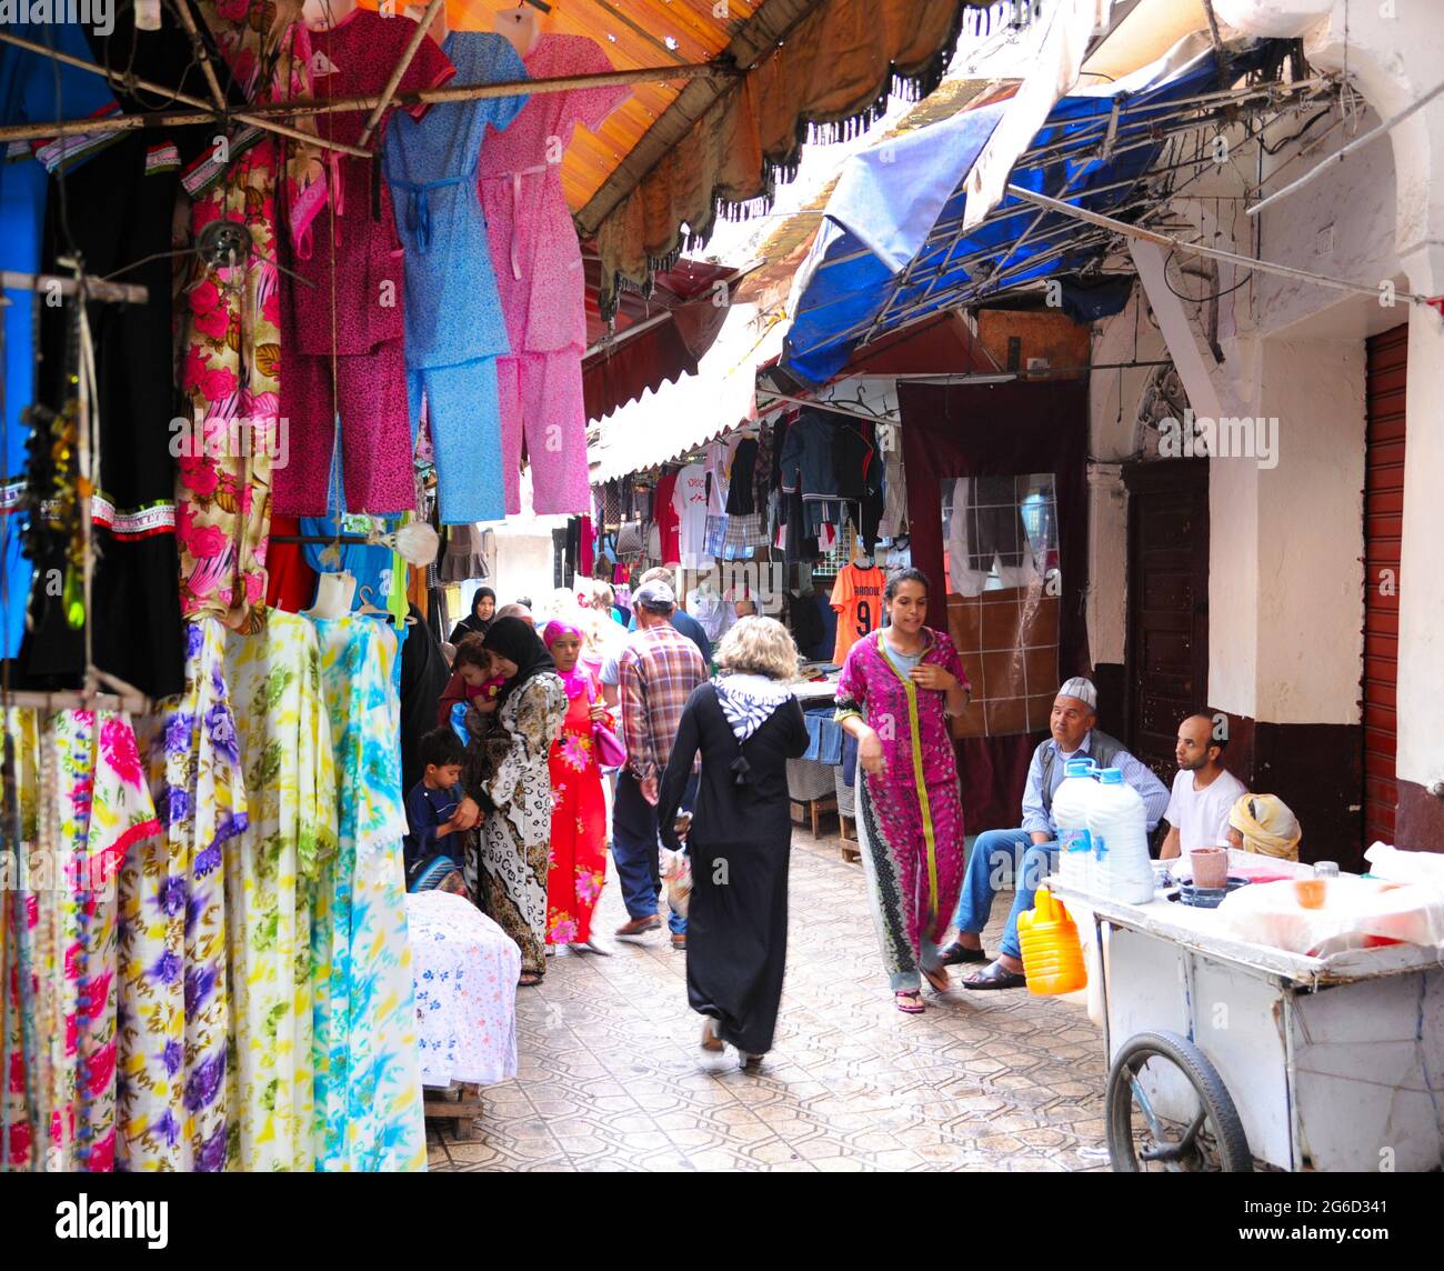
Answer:
[{"label": "seated older man in white cap, grey vest and jeans", "polygon": [[1164,783],[1123,750],[1121,741],[1096,729],[1096,721],[1097,689],[1092,680],[1074,676],[1058,689],[1053,702],[1053,737],[1032,752],[1028,783],[1022,791],[1022,828],[986,830],[973,843],[962,900],[953,919],[957,939],[943,950],[943,962],[949,966],[986,962],[980,932],[988,926],[993,895],[1009,875],[1015,880],[1015,893],[998,960],[963,981],[965,988],[1022,988],[1027,984],[1018,946],[1018,914],[1032,908],[1032,894],[1048,872],[1050,854],[1057,851],[1058,828],[1053,820],[1053,796],[1063,781],[1069,760],[1083,757],[1093,760],[1100,768],[1121,768],[1123,780],[1139,793],[1148,809],[1149,833],[1168,806]]}]

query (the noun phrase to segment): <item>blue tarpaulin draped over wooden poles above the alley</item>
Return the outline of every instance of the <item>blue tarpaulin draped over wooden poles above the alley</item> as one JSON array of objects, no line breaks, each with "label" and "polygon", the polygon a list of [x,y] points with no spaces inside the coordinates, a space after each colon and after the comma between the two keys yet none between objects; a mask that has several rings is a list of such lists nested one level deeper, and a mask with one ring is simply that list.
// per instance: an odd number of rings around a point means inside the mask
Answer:
[{"label": "blue tarpaulin draped over wooden poles above the alley", "polygon": [[[1126,218],[1157,201],[1145,179],[1180,103],[1227,87],[1266,51],[1266,42],[1230,51],[1222,74],[1212,49],[1181,66],[1175,51],[1125,81],[1061,98],[1011,183]],[[799,272],[783,354],[788,371],[823,384],[864,341],[1021,283],[1067,282],[1103,256],[1108,230],[1011,195],[962,233],[963,183],[1008,105],[963,111],[848,160]],[[1097,318],[1118,312],[1126,290],[1073,299]]]}]

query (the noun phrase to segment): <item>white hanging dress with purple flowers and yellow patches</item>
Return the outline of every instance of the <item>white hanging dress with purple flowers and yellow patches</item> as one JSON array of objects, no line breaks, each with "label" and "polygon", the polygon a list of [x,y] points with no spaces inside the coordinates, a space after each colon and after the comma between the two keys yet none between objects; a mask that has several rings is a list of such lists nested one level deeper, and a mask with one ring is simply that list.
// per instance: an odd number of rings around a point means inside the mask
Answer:
[{"label": "white hanging dress with purple flowers and yellow patches", "polygon": [[120,875],[123,1170],[225,1167],[224,845],[247,826],[225,631],[186,627],[186,686],[147,721],[162,829]]}]

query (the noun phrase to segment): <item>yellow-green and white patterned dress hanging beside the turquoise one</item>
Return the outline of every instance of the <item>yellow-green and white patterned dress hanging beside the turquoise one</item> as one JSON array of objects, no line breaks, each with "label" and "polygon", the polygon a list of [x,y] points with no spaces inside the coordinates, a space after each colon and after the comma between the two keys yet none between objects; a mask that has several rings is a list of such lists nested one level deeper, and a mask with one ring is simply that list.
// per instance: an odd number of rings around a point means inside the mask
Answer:
[{"label": "yellow-green and white patterned dress hanging beside the turquoise one", "polygon": [[280,610],[225,638],[225,679],[248,794],[222,846],[231,968],[228,1167],[312,1170],[310,920],[318,871],[336,851],[335,758],[312,624]]}]

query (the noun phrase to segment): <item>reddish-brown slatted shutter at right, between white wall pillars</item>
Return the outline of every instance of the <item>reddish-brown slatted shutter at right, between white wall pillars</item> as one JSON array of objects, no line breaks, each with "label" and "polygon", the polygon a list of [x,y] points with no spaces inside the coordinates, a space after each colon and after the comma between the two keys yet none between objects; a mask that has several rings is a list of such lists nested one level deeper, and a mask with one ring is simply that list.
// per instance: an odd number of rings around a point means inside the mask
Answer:
[{"label": "reddish-brown slatted shutter at right, between white wall pillars", "polygon": [[1367,344],[1363,488],[1363,846],[1393,842],[1399,543],[1404,534],[1404,390],[1408,326]]}]

